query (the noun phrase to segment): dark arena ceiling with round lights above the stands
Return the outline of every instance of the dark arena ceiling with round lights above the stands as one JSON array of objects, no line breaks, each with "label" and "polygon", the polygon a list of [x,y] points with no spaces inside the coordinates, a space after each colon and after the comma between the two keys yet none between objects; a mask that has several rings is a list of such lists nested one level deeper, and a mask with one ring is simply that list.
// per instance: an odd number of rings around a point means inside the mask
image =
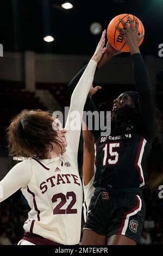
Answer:
[{"label": "dark arena ceiling with round lights above the stands", "polygon": [[[100,35],[90,32],[92,22],[107,28],[116,15],[130,13],[145,26],[143,54],[158,55],[163,43],[163,0],[71,0],[73,9],[60,8],[61,0],[2,0],[0,43],[4,51],[92,54]],[[47,43],[43,36],[55,41]]]}]

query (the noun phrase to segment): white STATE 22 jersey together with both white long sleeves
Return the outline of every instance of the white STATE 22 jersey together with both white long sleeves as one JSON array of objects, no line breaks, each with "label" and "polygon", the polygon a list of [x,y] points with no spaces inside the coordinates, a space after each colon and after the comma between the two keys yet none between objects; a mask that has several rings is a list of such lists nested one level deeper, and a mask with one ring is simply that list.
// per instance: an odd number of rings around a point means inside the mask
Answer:
[{"label": "white STATE 22 jersey together with both white long sleeves", "polygon": [[[24,160],[0,181],[0,202],[20,188],[28,200],[32,210],[24,230],[62,245],[76,245],[80,240],[83,190],[78,173],[78,145],[83,108],[96,66],[97,62],[91,59],[71,96],[65,125],[66,152],[51,160]],[[76,124],[74,112],[80,117],[77,129],[71,129],[72,123]]]}]

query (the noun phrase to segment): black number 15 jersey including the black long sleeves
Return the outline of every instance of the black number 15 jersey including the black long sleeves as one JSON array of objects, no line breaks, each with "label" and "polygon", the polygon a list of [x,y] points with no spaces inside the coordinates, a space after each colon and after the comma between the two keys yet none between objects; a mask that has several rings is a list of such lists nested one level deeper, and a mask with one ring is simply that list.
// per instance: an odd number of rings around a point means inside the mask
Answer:
[{"label": "black number 15 jersey including the black long sleeves", "polygon": [[[155,106],[148,71],[140,53],[131,55],[135,87],[139,94],[140,126],[128,135],[101,137],[101,131],[90,129],[97,143],[95,187],[142,187],[143,171],[156,133]],[[86,66],[68,85],[72,94]],[[97,111],[88,96],[84,111]]]}]

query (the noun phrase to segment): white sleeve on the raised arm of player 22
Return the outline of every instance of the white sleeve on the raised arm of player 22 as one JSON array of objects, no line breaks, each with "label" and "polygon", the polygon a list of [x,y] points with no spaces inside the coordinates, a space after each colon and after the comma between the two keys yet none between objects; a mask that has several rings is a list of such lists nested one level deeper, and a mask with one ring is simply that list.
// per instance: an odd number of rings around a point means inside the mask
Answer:
[{"label": "white sleeve on the raised arm of player 22", "polygon": [[67,130],[67,148],[71,150],[71,154],[76,157],[76,159],[82,126],[83,109],[86,97],[93,82],[96,66],[97,62],[91,59],[71,96],[70,110],[68,112],[65,130]]}]

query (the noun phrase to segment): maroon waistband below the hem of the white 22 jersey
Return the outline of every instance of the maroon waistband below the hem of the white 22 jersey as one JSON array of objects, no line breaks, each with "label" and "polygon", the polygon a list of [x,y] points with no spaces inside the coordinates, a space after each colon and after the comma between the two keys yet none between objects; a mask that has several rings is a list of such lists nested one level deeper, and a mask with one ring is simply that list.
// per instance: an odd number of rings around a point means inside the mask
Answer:
[{"label": "maroon waistband below the hem of the white 22 jersey", "polygon": [[34,243],[34,245],[60,245],[59,243],[53,242],[45,237],[29,232],[24,233],[23,240]]}]

